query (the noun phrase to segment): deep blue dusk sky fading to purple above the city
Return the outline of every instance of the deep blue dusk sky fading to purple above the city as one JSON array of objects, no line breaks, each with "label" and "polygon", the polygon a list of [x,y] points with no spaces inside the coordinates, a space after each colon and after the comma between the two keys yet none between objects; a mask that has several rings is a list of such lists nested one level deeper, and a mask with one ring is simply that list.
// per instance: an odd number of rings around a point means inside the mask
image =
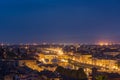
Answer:
[{"label": "deep blue dusk sky fading to purple above the city", "polygon": [[0,0],[0,42],[120,41],[120,0]]}]

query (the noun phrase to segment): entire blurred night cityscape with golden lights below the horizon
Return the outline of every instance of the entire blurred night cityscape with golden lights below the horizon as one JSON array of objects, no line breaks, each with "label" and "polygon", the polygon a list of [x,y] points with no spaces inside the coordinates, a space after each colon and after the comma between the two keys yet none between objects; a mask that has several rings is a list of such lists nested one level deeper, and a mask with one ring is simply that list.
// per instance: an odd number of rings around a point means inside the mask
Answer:
[{"label": "entire blurred night cityscape with golden lights below the horizon", "polygon": [[119,44],[0,46],[1,80],[120,80]]}]

